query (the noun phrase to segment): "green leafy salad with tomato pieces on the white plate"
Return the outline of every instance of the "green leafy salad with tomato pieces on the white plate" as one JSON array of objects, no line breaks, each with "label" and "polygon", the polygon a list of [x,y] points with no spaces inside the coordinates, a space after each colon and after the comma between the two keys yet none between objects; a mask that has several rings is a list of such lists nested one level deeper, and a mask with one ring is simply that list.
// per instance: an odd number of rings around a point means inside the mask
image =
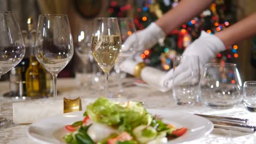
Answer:
[{"label": "green leafy salad with tomato pieces on the white plate", "polygon": [[141,103],[114,103],[99,98],[89,104],[84,120],[66,125],[69,144],[160,144],[186,133],[150,115]]}]

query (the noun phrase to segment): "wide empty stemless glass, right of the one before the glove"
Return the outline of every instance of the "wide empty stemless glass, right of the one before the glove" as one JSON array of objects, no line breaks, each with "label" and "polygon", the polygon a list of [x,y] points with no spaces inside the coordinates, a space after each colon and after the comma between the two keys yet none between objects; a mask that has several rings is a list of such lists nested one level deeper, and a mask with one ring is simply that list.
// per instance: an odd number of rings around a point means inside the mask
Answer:
[{"label": "wide empty stemless glass, right of the one before the glove", "polygon": [[200,100],[211,108],[231,108],[242,101],[242,81],[236,64],[205,64]]}]

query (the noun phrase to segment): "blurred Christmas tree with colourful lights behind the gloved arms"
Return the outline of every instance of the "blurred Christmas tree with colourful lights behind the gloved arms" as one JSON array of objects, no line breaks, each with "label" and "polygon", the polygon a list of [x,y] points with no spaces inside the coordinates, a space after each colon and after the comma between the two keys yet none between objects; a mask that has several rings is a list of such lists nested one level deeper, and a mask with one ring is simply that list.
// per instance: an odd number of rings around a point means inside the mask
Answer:
[{"label": "blurred Christmas tree with colourful lights behind the gloved arms", "polygon": [[[147,0],[143,6],[135,8],[134,23],[138,30],[144,29],[151,22],[161,18],[164,13],[179,5],[179,0]],[[187,46],[200,36],[204,30],[209,34],[219,32],[235,22],[232,0],[215,0],[205,11],[194,19],[184,23],[179,29],[173,30],[163,44],[156,44],[141,54],[141,58],[153,67],[163,70],[171,69],[174,56],[181,55]],[[125,17],[131,5],[118,5],[111,1],[109,16]],[[227,50],[218,53],[215,62],[234,62],[238,57],[237,45],[227,46]]]}]

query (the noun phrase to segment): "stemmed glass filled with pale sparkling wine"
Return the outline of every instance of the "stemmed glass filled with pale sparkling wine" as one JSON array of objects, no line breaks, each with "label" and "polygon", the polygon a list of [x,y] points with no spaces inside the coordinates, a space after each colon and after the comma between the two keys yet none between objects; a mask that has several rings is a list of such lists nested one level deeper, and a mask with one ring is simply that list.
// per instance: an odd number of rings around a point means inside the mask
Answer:
[{"label": "stemmed glass filled with pale sparkling wine", "polygon": [[108,97],[108,74],[121,51],[117,18],[96,18],[92,32],[91,50],[97,64],[105,73],[105,96]]}]

